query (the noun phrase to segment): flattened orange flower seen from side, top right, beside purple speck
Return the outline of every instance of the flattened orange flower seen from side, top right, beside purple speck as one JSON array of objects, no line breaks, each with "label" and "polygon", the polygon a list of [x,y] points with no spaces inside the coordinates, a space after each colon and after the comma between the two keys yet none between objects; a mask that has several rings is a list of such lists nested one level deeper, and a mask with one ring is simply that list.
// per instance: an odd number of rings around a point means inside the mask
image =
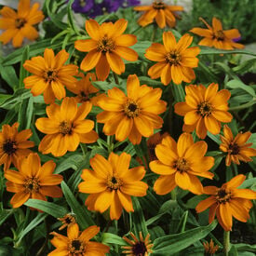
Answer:
[{"label": "flattened orange flower seen from side, top right, beside purple speck", "polygon": [[215,47],[219,49],[234,49],[244,48],[243,45],[237,44],[234,39],[241,37],[241,34],[236,29],[223,30],[221,20],[212,18],[212,27],[209,26],[206,20],[200,18],[208,29],[194,28],[190,32],[204,36],[205,38],[199,42],[199,46]]}]

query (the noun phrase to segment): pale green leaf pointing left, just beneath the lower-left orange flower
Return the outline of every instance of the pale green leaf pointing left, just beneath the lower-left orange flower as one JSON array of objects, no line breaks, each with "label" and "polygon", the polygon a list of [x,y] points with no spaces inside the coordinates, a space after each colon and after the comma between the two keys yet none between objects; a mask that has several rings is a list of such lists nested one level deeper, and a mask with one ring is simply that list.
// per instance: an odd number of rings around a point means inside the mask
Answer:
[{"label": "pale green leaf pointing left, just beneath the lower-left orange flower", "polygon": [[54,203],[50,203],[43,200],[38,199],[29,199],[25,204],[27,207],[32,207],[34,209],[41,209],[47,214],[53,216],[54,218],[63,217],[68,210]]}]

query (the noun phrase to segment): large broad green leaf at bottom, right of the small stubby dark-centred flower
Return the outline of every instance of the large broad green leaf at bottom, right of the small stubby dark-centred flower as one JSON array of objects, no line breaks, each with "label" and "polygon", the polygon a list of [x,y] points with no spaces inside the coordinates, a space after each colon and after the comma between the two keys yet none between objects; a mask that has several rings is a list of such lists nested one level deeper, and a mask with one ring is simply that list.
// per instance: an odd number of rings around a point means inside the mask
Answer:
[{"label": "large broad green leaf at bottom, right of the small stubby dark-centred flower", "polygon": [[208,226],[196,227],[180,234],[163,236],[155,239],[154,253],[152,255],[172,255],[182,249],[193,245],[199,239],[209,235],[216,225],[217,220]]}]

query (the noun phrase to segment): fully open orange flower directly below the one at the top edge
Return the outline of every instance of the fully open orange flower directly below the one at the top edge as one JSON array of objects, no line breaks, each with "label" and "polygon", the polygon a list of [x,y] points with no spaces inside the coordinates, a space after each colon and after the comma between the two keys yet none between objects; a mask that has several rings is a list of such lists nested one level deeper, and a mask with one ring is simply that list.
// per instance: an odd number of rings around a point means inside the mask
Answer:
[{"label": "fully open orange flower directly below the one at the top edge", "polygon": [[148,70],[152,79],[161,77],[161,82],[167,86],[172,80],[179,85],[182,81],[189,83],[195,79],[193,68],[197,67],[199,47],[188,48],[193,41],[193,36],[182,35],[177,43],[171,32],[163,33],[164,45],[153,43],[146,49],[145,57],[157,63]]}]

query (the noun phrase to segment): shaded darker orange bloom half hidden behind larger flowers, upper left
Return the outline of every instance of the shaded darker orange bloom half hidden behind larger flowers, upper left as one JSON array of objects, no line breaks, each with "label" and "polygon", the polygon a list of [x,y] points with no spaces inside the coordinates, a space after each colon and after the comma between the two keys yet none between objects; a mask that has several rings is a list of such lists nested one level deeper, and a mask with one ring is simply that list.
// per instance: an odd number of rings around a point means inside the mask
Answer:
[{"label": "shaded darker orange bloom half hidden behind larger flowers, upper left", "polygon": [[74,99],[77,103],[90,101],[93,105],[97,105],[97,99],[99,96],[96,96],[95,94],[99,92],[99,89],[95,88],[91,84],[91,81],[96,81],[95,74],[88,73],[85,76],[85,74],[81,73],[79,76],[81,76],[82,79],[75,84],[75,88],[70,88],[70,91],[76,94]]}]

